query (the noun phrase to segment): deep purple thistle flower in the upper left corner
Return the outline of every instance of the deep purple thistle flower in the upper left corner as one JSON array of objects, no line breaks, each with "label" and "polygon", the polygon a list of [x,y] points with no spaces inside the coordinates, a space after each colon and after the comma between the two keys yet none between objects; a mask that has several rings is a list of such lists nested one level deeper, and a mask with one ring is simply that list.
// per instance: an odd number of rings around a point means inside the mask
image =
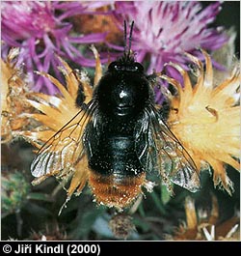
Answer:
[{"label": "deep purple thistle flower in the upper left corner", "polygon": [[[104,5],[104,3],[102,3]],[[83,56],[74,44],[100,43],[105,34],[95,33],[74,37],[67,18],[76,14],[91,14],[94,4],[61,1],[2,2],[2,57],[6,59],[11,47],[19,47],[18,65],[24,64],[34,90],[54,94],[57,89],[34,71],[58,71],[56,54],[86,67],[94,66],[94,58]]]}]

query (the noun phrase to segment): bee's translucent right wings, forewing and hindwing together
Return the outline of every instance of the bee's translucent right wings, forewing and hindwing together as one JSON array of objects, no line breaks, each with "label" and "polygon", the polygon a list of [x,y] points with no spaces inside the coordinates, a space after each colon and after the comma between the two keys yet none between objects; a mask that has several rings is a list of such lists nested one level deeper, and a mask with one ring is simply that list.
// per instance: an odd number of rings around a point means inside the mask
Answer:
[{"label": "bee's translucent right wings, forewing and hindwing together", "polygon": [[[154,106],[146,109],[145,116],[143,126],[139,128],[140,134],[137,136],[137,148],[140,149],[143,144],[142,150],[138,153],[141,162],[146,162],[146,166],[151,167],[150,170],[158,170],[162,181],[170,190],[172,183],[192,192],[199,190],[200,177],[192,157],[161,119]],[[141,144],[138,138],[142,136],[143,139],[139,139],[142,141]]]}]

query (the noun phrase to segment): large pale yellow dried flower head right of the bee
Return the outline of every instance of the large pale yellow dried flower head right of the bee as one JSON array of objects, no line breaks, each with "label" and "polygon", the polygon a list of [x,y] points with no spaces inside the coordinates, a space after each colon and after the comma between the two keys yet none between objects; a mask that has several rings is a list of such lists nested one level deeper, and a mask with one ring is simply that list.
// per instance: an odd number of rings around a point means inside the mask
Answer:
[{"label": "large pale yellow dried flower head right of the bee", "polygon": [[211,166],[214,185],[222,185],[231,193],[226,164],[239,170],[236,158],[240,154],[240,71],[236,65],[223,82],[214,86],[211,59],[206,52],[202,54],[205,69],[196,57],[187,54],[198,68],[194,86],[187,71],[175,64],[170,65],[183,76],[183,88],[174,79],[162,75],[177,91],[169,95],[168,124],[198,169]]}]

